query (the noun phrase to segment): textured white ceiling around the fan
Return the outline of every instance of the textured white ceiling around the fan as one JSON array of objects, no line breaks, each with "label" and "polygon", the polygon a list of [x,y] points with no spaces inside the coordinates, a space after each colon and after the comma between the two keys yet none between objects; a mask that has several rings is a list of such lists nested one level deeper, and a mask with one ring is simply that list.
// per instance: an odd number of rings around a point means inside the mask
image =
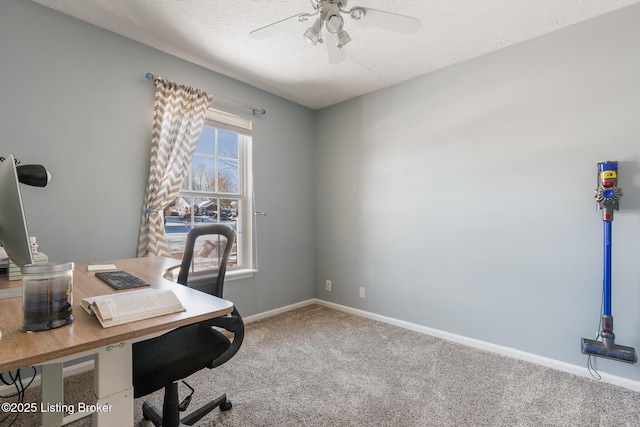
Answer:
[{"label": "textured white ceiling around the fan", "polygon": [[[400,35],[345,20],[347,59],[297,23],[265,40],[249,32],[298,14],[310,0],[33,0],[313,109],[389,86],[640,0],[350,0],[420,19]],[[162,70],[150,70],[162,75]]]}]

